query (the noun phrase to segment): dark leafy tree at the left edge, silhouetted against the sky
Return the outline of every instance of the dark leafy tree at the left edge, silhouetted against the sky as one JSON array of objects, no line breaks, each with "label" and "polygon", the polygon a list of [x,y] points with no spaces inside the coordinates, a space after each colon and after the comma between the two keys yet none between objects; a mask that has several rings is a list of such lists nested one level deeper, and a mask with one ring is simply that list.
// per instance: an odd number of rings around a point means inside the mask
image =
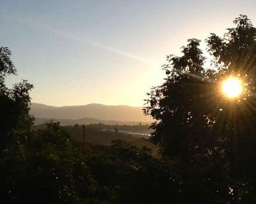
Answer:
[{"label": "dark leafy tree at the left edge, silhouetted against the sky", "polygon": [[[6,142],[11,140],[11,135],[16,132],[23,135],[32,124],[32,117],[29,116],[29,90],[33,86],[23,80],[21,83],[13,85],[12,89],[8,89],[5,84],[7,75],[16,74],[16,68],[11,61],[11,52],[7,47],[0,48],[0,144],[3,148]],[[16,135],[17,135],[16,134]]]}]

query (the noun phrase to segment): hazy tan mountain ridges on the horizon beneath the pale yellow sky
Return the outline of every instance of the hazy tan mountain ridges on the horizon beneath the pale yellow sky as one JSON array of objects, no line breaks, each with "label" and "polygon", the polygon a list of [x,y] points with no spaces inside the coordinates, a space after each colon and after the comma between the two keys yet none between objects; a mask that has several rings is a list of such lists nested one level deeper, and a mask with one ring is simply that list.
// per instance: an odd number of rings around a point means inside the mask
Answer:
[{"label": "hazy tan mountain ridges on the horizon beneath the pale yellow sky", "polygon": [[30,113],[37,119],[81,120],[86,118],[136,123],[150,123],[152,121],[149,116],[143,114],[142,107],[127,105],[87,104],[77,106],[51,106],[31,103]]}]

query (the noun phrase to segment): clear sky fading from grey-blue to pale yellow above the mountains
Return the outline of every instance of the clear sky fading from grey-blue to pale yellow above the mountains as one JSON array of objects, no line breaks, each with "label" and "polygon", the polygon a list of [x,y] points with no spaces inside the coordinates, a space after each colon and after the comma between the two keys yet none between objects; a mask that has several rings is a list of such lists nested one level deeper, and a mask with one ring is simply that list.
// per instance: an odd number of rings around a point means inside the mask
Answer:
[{"label": "clear sky fading from grey-blue to pale yellow above the mountains", "polygon": [[[27,79],[32,101],[47,105],[144,104],[159,85],[167,54],[188,38],[222,35],[252,1],[1,0],[0,45]],[[204,46],[202,46],[205,49]]]}]

